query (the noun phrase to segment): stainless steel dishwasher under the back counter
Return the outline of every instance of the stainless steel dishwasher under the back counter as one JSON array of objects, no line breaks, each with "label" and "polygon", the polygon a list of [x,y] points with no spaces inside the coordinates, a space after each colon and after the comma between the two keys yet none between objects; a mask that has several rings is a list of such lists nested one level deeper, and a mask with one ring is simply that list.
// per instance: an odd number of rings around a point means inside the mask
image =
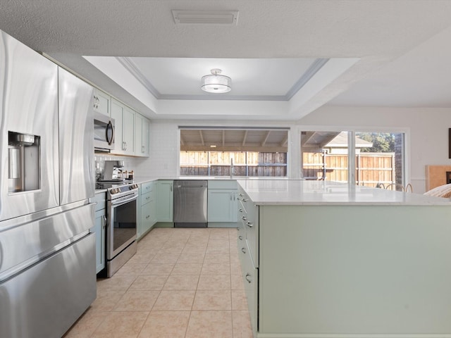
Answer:
[{"label": "stainless steel dishwasher under the back counter", "polygon": [[208,181],[174,181],[174,227],[206,227]]}]

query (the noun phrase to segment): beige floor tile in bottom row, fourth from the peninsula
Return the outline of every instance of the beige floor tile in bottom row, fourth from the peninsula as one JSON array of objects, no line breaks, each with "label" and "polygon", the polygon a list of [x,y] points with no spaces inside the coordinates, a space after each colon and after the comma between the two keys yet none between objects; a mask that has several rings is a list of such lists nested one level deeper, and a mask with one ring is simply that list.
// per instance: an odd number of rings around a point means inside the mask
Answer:
[{"label": "beige floor tile in bottom row, fourth from the peninsula", "polygon": [[94,331],[94,338],[135,338],[140,334],[147,311],[110,312]]}]

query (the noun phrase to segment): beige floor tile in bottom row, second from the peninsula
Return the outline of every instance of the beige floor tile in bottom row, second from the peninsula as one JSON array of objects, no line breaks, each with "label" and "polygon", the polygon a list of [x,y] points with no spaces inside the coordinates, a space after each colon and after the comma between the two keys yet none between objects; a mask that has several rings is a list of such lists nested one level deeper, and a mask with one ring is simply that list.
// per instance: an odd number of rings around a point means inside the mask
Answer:
[{"label": "beige floor tile in bottom row, second from the peninsula", "polygon": [[191,311],[186,338],[233,338],[232,311]]}]

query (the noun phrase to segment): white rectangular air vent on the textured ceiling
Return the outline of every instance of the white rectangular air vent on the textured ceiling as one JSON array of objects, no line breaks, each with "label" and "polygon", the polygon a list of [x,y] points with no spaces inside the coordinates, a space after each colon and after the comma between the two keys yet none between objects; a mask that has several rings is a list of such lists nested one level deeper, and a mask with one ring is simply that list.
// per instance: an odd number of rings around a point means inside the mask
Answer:
[{"label": "white rectangular air vent on the textured ceiling", "polygon": [[238,11],[172,11],[177,25],[237,25]]}]

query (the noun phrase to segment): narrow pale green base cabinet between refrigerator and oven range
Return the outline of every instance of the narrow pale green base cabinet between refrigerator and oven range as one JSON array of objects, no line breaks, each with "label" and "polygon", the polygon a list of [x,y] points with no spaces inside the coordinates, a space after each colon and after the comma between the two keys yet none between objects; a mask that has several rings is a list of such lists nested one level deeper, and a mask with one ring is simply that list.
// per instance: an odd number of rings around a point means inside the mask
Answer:
[{"label": "narrow pale green base cabinet between refrigerator and oven range", "polygon": [[94,227],[89,231],[96,235],[96,273],[105,268],[106,192],[95,194],[91,202],[97,203],[94,212]]}]

